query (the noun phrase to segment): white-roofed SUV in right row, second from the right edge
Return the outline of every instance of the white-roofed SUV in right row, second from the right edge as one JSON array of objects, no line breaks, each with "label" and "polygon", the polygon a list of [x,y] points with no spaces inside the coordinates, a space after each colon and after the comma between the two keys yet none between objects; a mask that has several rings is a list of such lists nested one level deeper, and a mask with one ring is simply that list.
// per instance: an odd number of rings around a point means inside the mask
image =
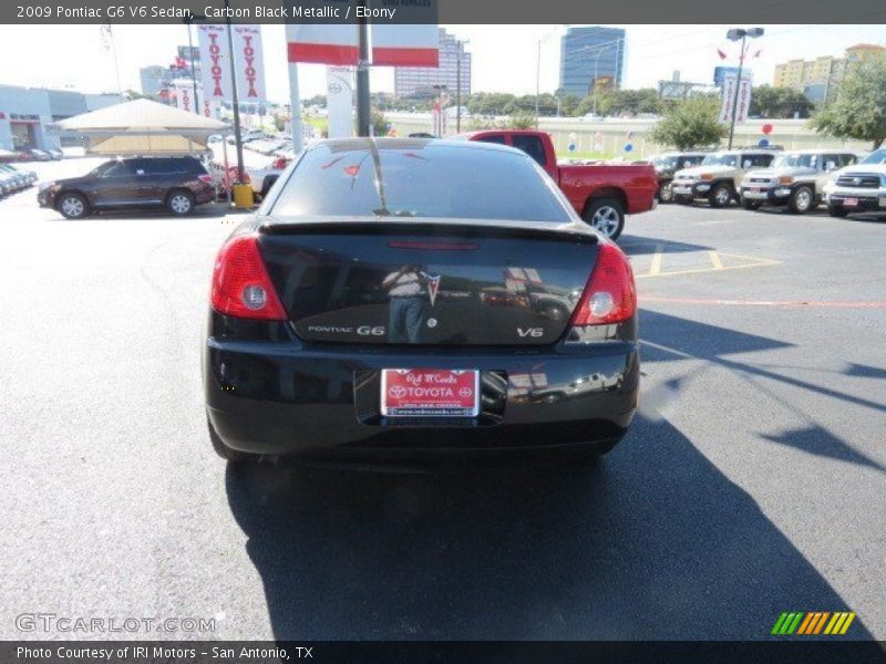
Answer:
[{"label": "white-roofed SUV in right row, second from the right edge", "polygon": [[845,151],[802,149],[775,157],[769,168],[751,170],[741,184],[745,210],[762,205],[787,207],[803,215],[824,200],[824,186],[832,174],[857,163],[858,155]]}]

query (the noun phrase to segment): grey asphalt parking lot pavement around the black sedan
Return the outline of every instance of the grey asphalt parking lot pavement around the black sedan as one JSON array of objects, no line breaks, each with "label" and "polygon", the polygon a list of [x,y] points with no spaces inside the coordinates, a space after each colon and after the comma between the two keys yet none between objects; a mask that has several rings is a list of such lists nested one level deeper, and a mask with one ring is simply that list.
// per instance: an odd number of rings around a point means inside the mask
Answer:
[{"label": "grey asphalt parking lot pavement around the black sedan", "polygon": [[240,219],[0,201],[3,639],[102,637],[22,633],[25,612],[219,639],[766,639],[782,611],[835,610],[886,639],[886,219],[629,218],[627,438],[598,466],[443,475],[216,458],[198,351]]}]

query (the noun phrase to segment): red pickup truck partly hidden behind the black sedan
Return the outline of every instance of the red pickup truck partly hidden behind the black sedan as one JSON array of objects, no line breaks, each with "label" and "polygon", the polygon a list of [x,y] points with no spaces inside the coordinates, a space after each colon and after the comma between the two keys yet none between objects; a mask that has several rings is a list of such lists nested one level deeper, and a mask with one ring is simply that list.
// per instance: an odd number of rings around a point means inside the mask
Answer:
[{"label": "red pickup truck partly hidden behind the black sedan", "polygon": [[658,178],[651,164],[558,166],[554,144],[544,132],[490,129],[460,138],[522,149],[559,185],[585,221],[614,240],[625,228],[625,214],[637,215],[656,206]]}]

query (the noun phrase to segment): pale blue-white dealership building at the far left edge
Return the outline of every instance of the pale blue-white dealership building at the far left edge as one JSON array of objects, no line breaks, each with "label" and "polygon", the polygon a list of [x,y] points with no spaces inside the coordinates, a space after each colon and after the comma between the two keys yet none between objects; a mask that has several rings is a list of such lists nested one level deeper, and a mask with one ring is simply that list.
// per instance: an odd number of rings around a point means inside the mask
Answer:
[{"label": "pale blue-white dealership building at the far left edge", "polygon": [[84,94],[71,90],[0,85],[0,148],[19,151],[58,147],[62,138],[69,137],[60,136],[50,126],[52,123],[123,101],[125,100],[119,94]]}]

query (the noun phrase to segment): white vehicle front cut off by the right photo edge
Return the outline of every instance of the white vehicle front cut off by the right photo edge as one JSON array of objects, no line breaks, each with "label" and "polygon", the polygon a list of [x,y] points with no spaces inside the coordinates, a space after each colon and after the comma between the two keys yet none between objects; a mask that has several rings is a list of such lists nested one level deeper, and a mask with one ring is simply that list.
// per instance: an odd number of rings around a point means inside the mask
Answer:
[{"label": "white vehicle front cut off by the right photo edge", "polygon": [[825,200],[832,217],[886,211],[886,147],[835,174],[825,185]]}]

